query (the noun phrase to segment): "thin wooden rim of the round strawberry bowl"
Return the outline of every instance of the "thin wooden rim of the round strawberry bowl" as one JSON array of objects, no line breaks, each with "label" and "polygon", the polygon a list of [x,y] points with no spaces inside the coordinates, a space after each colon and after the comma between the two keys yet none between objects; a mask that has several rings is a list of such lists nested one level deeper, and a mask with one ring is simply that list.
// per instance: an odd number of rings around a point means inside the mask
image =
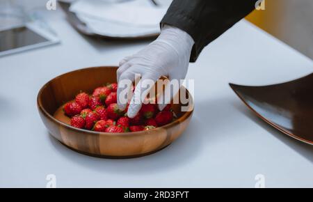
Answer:
[{"label": "thin wooden rim of the round strawberry bowl", "polygon": [[67,74],[72,74],[73,72],[78,72],[78,71],[82,71],[82,70],[88,70],[88,69],[97,69],[97,68],[118,68],[118,66],[97,66],[97,67],[90,67],[90,68],[81,68],[79,70],[72,70],[70,72],[65,72],[62,75],[58,75],[57,77],[54,77],[53,79],[50,79],[46,84],[44,84],[42,86],[42,88],[40,88],[40,91],[38,92],[37,95],[37,105],[38,108],[40,109],[40,111],[42,111],[43,114],[45,114],[46,117],[48,117],[52,122],[57,123],[59,125],[62,125],[63,127],[66,127],[70,130],[74,130],[77,132],[86,132],[88,134],[95,134],[95,135],[106,135],[106,136],[129,136],[129,134],[132,135],[141,135],[141,134],[149,134],[152,131],[155,130],[161,130],[161,129],[166,129],[168,127],[172,127],[174,125],[178,125],[179,122],[186,120],[189,116],[191,116],[191,114],[193,113],[194,110],[194,102],[193,102],[193,97],[191,95],[191,93],[189,93],[188,89],[186,89],[184,86],[182,86],[181,88],[185,88],[186,92],[188,93],[188,98],[191,102],[191,105],[189,106],[188,111],[186,111],[183,116],[177,118],[175,121],[168,123],[166,125],[163,125],[161,127],[156,127],[152,130],[143,130],[143,131],[139,131],[139,132],[119,132],[119,133],[113,133],[113,132],[96,132],[93,130],[85,130],[85,129],[80,129],[77,127],[72,127],[72,125],[67,125],[66,123],[63,123],[62,121],[58,121],[58,119],[54,118],[54,116],[51,116],[51,114],[49,114],[45,108],[42,106],[42,101],[41,101],[41,95],[42,95],[42,91],[55,79],[58,79],[59,77],[63,77]]}]

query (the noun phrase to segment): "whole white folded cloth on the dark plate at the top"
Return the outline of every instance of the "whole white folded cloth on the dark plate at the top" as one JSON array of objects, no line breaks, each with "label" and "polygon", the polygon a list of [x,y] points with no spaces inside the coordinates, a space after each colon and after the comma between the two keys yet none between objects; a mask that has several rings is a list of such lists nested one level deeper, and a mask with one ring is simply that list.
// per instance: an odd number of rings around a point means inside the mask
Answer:
[{"label": "whole white folded cloth on the dark plate at the top", "polygon": [[79,0],[70,6],[95,33],[106,36],[138,36],[159,33],[159,22],[169,6],[155,6],[150,0]]}]

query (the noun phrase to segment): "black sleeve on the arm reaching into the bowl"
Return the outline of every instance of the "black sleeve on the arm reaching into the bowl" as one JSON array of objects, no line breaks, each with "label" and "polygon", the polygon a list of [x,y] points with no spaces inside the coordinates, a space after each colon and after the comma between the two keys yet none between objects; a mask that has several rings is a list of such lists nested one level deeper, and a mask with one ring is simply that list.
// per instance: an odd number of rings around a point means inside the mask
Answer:
[{"label": "black sleeve on the arm reaching into the bowl", "polygon": [[173,0],[162,24],[176,26],[195,40],[194,62],[202,49],[255,9],[257,0]]}]

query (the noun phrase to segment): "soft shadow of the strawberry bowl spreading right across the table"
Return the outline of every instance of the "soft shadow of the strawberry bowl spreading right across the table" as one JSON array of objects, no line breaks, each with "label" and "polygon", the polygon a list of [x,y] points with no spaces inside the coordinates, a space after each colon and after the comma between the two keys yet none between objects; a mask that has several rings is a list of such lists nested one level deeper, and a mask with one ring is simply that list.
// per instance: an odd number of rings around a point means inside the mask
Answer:
[{"label": "soft shadow of the strawberry bowl spreading right across the table", "polygon": [[[203,154],[204,147],[224,143],[228,138],[240,135],[239,133],[225,132],[230,130],[229,127],[241,124],[238,114],[230,114],[230,110],[233,109],[232,102],[227,98],[195,102],[193,118],[182,136],[163,150],[145,157],[126,160],[89,157],[66,148],[53,137],[50,137],[50,140],[57,152],[61,153],[67,160],[75,162],[79,166],[88,167],[88,169],[112,173],[161,172],[192,164],[193,160],[200,155],[205,155]],[[230,122],[232,122],[231,125]],[[209,161],[209,159],[206,160]]]}]

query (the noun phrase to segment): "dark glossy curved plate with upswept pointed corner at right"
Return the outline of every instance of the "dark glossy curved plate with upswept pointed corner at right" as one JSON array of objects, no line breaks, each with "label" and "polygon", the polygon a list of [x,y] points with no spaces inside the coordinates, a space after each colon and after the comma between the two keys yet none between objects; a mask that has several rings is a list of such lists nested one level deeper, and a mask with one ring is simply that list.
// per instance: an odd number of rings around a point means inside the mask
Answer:
[{"label": "dark glossy curved plate with upswept pointed corner at right", "polygon": [[230,87],[263,121],[313,145],[313,73],[282,84]]}]

